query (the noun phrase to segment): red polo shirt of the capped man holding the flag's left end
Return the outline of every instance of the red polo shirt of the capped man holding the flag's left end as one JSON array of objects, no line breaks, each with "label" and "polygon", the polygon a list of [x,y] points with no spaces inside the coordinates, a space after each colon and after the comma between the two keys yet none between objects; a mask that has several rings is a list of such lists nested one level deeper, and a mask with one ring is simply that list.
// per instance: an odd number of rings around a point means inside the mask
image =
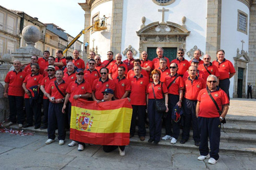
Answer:
[{"label": "red polo shirt of the capped man holding the flag's left end", "polygon": [[[83,80],[82,83],[78,84],[77,81],[73,81],[68,84],[68,87],[66,89],[66,93],[70,94],[69,102],[73,102],[74,95],[79,95],[79,94],[87,94],[91,93],[91,84],[89,84],[87,81]],[[79,100],[82,101],[87,101],[88,99],[86,98],[79,98]]]}]

